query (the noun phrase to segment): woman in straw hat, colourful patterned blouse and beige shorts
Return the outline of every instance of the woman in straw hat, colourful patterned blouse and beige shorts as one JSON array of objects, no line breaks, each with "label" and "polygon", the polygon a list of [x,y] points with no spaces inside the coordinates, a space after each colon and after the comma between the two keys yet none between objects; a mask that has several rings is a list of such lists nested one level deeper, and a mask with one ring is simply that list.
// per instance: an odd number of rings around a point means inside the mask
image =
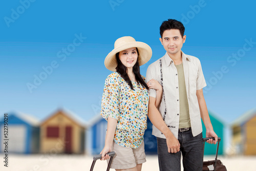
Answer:
[{"label": "woman in straw hat, colourful patterned blouse and beige shorts", "polygon": [[111,71],[105,80],[101,101],[101,116],[108,121],[102,160],[106,153],[115,151],[111,168],[140,171],[145,160],[143,135],[146,129],[148,89],[157,90],[159,105],[162,87],[156,80],[145,83],[140,67],[150,60],[152,50],[133,37],[124,36],[115,41],[114,50],[105,58],[105,67]]}]

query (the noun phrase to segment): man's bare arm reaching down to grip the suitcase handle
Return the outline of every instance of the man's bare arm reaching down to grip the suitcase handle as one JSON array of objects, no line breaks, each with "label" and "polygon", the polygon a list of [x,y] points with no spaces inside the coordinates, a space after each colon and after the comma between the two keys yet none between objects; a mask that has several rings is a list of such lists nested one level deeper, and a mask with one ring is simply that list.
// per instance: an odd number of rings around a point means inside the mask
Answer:
[{"label": "man's bare arm reaching down to grip the suitcase handle", "polygon": [[218,141],[218,136],[214,132],[214,128],[212,127],[212,124],[210,122],[210,117],[209,117],[206,102],[204,99],[203,89],[197,90],[197,99],[198,99],[198,103],[199,103],[201,118],[202,118],[205,128],[206,128],[206,137],[214,137],[215,138],[215,141],[212,141],[212,139],[210,139],[210,140],[207,140],[207,142],[211,143],[211,144],[212,143],[216,144]]}]

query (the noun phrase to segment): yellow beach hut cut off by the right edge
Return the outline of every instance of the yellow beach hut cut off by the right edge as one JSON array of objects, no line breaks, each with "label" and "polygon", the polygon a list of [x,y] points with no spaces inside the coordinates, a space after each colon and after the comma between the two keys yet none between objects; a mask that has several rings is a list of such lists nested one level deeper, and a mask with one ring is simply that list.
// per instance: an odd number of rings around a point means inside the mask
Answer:
[{"label": "yellow beach hut cut off by the right edge", "polygon": [[237,154],[256,155],[256,109],[252,109],[231,124],[232,143]]}]

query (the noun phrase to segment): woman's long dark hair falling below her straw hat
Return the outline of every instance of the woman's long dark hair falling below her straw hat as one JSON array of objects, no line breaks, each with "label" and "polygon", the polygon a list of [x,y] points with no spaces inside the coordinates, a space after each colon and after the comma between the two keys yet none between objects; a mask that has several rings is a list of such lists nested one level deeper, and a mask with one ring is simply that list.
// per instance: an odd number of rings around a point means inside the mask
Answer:
[{"label": "woman's long dark hair falling below her straw hat", "polygon": [[[148,87],[145,83],[145,81],[143,80],[143,78],[140,75],[140,65],[139,65],[139,51],[136,48],[137,53],[138,53],[138,58],[137,61],[135,63],[135,65],[133,66],[133,73],[135,75],[135,79],[137,80],[138,83],[140,83],[142,86],[144,86],[147,90]],[[129,84],[129,86],[131,87],[132,90],[133,89],[133,84],[132,81],[130,80],[128,74],[126,73],[127,71],[127,67],[125,67],[121,60],[119,59],[119,52],[116,53],[116,60],[117,60],[117,67],[116,67],[116,71],[121,75],[121,77]]]}]

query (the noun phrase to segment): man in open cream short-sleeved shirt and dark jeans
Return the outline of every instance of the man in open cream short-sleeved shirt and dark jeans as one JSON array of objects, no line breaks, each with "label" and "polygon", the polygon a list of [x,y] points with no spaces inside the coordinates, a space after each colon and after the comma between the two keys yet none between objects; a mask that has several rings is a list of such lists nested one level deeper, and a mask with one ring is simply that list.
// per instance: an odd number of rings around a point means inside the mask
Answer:
[{"label": "man in open cream short-sleeved shirt and dark jeans", "polygon": [[[175,19],[164,21],[160,27],[165,55],[152,63],[146,80],[162,84],[162,100],[156,108],[156,93],[150,89],[148,117],[153,123],[152,134],[157,137],[160,171],[180,170],[181,154],[184,170],[202,170],[203,140],[201,118],[208,143],[217,143],[218,136],[211,125],[203,88],[206,86],[198,58],[186,55],[181,48],[186,40],[185,28]],[[158,111],[159,110],[159,111]]]}]

